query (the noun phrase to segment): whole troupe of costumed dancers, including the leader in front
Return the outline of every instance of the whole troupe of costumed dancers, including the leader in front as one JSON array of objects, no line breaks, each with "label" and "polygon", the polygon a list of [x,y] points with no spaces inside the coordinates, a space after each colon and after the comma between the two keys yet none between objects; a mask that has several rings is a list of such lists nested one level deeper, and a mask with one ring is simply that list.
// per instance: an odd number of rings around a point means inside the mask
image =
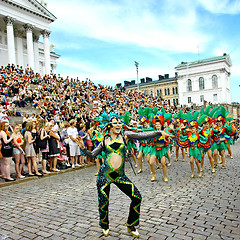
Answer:
[{"label": "whole troupe of costumed dancers, including the leader in front", "polygon": [[[97,119],[98,128],[93,142],[95,149],[87,150],[83,140],[79,139],[78,145],[90,158],[95,158],[97,172],[98,207],[100,215],[100,226],[104,236],[109,235],[108,206],[110,184],[114,183],[130,199],[129,216],[126,223],[128,232],[133,237],[139,237],[135,228],[139,225],[141,194],[137,187],[125,175],[125,161],[127,152],[131,154],[137,167],[138,173],[142,172],[142,162],[146,156],[152,172],[151,181],[156,179],[155,163],[159,163],[163,171],[163,179],[167,179],[167,166],[171,166],[172,146],[176,146],[176,160],[178,161],[179,148],[185,161],[186,149],[189,149],[190,166],[192,175],[194,173],[194,162],[197,165],[198,177],[201,177],[204,155],[207,153],[212,173],[218,164],[218,158],[222,168],[225,168],[225,150],[231,144],[232,136],[237,131],[228,111],[224,107],[216,107],[210,111],[210,106],[199,112],[188,112],[183,114],[182,110],[172,116],[162,108],[139,107],[139,124],[131,120],[127,112],[124,116],[115,113],[103,112]],[[130,125],[131,123],[131,125]],[[138,145],[138,156],[136,158]],[[231,154],[231,153],[230,153]],[[130,159],[129,163],[131,164]],[[167,164],[168,160],[168,164]],[[132,166],[132,164],[131,164]],[[132,166],[133,168],[133,166]],[[133,169],[134,170],[134,169]]]}]

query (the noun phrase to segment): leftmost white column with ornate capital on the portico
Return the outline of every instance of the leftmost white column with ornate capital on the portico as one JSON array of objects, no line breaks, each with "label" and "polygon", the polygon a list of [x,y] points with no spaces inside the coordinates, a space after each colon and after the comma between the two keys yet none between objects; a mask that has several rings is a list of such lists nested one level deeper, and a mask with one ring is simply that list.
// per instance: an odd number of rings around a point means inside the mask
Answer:
[{"label": "leftmost white column with ornate capital on the portico", "polygon": [[14,31],[13,31],[14,19],[7,16],[5,18],[5,22],[7,23],[8,63],[16,65]]}]

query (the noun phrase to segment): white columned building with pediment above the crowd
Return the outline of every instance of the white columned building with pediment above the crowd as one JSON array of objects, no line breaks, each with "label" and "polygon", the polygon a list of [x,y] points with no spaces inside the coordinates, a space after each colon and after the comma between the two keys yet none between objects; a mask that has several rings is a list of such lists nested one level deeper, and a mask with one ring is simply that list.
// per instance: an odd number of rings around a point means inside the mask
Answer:
[{"label": "white columned building with pediment above the crowd", "polygon": [[36,0],[0,0],[0,65],[30,67],[41,75],[55,73],[60,56],[49,43],[55,20]]}]

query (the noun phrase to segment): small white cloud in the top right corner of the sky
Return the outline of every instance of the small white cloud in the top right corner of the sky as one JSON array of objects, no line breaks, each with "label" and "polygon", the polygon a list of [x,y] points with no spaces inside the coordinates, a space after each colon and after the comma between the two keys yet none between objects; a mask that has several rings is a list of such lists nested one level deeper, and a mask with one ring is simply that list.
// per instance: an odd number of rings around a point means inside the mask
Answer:
[{"label": "small white cloud in the top right corner of the sky", "polygon": [[239,0],[198,0],[199,3],[211,13],[239,14]]}]

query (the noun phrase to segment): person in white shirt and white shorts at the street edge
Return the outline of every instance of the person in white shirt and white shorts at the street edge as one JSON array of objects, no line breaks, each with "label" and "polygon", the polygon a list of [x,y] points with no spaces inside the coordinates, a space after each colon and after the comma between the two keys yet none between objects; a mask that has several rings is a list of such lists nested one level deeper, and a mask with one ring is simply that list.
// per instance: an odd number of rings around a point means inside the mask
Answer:
[{"label": "person in white shirt and white shorts at the street edge", "polygon": [[69,124],[70,124],[70,127],[67,129],[67,133],[69,136],[70,159],[72,163],[72,168],[75,168],[75,164],[77,167],[79,166],[77,162],[80,156],[80,148],[76,143],[79,136],[76,128],[76,120],[74,119],[70,120]]}]

